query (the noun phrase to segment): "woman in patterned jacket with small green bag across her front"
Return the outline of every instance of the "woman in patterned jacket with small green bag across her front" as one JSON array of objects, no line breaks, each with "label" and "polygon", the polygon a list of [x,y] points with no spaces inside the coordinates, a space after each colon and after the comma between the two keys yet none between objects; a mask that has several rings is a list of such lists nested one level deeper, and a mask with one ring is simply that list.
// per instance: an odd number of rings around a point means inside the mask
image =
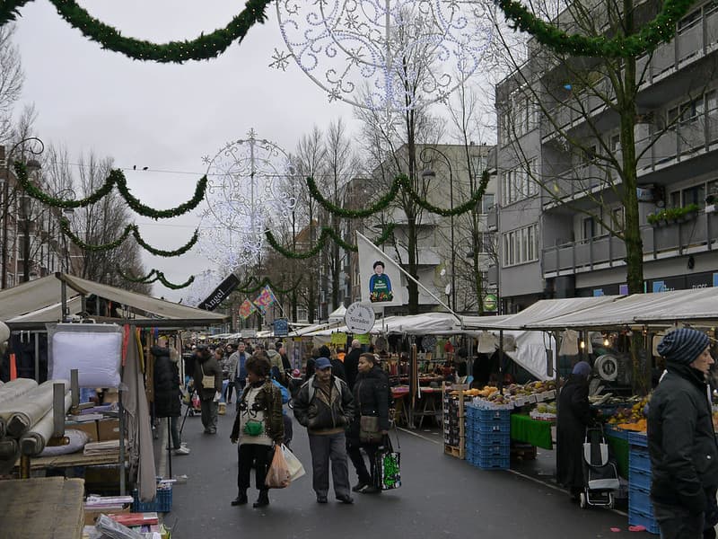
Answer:
[{"label": "woman in patterned jacket with small green bag across her front", "polygon": [[237,401],[237,415],[232,426],[232,444],[238,441],[239,470],[237,472],[237,498],[233,506],[247,503],[250,488],[250,470],[255,469],[255,484],[259,497],[252,507],[269,505],[265,478],[272,462],[274,446],[285,441],[285,422],[282,417],[282,393],[272,383],[271,366],[264,352],[255,352],[244,364],[247,385]]}]

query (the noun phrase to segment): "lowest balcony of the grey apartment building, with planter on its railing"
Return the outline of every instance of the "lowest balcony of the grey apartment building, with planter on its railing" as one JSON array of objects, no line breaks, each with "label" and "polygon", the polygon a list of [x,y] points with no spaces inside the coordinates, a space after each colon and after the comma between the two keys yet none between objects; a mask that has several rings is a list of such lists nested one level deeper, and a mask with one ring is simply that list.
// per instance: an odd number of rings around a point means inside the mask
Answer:
[{"label": "lowest balcony of the grey apartment building, with planter on its railing", "polygon": [[[641,227],[644,261],[718,248],[718,216],[700,213],[685,223]],[[625,264],[626,245],[613,236],[564,243],[544,249],[543,277],[582,273]]]}]

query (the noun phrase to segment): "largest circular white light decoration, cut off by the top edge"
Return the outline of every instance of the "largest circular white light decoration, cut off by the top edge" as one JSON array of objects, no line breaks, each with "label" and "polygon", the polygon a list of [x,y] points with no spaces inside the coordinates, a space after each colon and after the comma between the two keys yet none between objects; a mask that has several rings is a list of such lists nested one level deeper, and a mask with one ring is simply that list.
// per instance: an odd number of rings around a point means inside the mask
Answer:
[{"label": "largest circular white light decoration, cut off by the top edge", "polygon": [[[489,3],[451,0],[278,0],[285,50],[329,102],[401,112],[445,101],[482,63],[493,37]],[[418,83],[418,91],[407,91]]]}]

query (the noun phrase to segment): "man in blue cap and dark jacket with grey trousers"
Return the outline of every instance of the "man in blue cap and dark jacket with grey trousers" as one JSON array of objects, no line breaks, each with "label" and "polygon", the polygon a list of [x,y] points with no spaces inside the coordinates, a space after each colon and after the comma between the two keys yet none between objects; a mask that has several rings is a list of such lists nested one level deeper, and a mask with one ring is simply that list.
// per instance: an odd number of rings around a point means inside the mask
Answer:
[{"label": "man in blue cap and dark jacket with grey trousers", "polygon": [[327,503],[329,461],[334,493],[342,503],[354,503],[350,496],[346,464],[345,430],[354,417],[354,398],[346,383],[332,376],[328,358],[318,358],[315,374],[294,399],[294,417],[307,428],[311,451],[312,486],[318,503]]}]

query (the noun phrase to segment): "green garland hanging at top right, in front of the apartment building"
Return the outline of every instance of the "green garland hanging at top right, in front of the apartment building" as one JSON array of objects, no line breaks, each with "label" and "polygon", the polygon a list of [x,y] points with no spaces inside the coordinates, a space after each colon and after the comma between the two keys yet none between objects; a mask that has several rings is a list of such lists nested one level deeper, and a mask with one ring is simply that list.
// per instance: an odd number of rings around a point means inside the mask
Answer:
[{"label": "green garland hanging at top right, in front of the apartment building", "polygon": [[559,54],[585,57],[637,57],[656,49],[661,43],[670,41],[676,33],[679,22],[693,0],[665,0],[661,12],[638,33],[606,36],[582,36],[567,34],[556,26],[543,22],[515,0],[497,0],[506,19],[512,21],[512,29],[530,33],[539,43]]}]

